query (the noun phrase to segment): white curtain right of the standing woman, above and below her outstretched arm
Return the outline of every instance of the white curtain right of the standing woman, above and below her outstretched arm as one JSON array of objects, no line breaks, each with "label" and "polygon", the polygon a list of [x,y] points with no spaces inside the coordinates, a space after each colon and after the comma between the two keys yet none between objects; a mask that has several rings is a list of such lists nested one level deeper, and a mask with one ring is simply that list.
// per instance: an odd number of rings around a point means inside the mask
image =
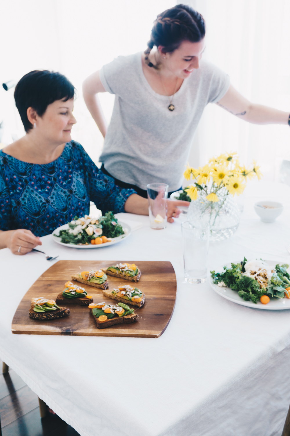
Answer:
[{"label": "white curtain right of the standing woman, above and below her outstretched arm", "polygon": [[[247,99],[290,113],[290,1],[191,0],[206,20],[204,58],[230,75]],[[205,109],[190,154],[192,166],[213,154],[237,151],[241,162],[257,159],[263,180],[279,181],[290,155],[290,127],[260,126],[217,105]]]}]

